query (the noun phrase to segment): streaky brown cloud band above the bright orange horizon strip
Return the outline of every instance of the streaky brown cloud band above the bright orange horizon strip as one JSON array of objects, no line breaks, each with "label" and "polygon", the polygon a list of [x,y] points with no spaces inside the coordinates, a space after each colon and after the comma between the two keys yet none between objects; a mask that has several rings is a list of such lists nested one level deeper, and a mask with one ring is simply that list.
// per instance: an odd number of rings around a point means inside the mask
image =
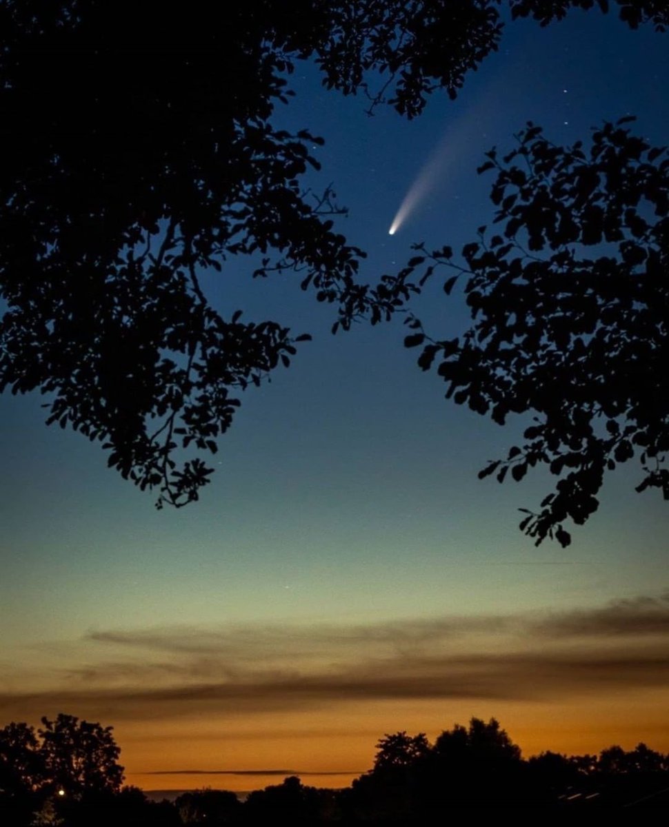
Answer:
[{"label": "streaky brown cloud band above the bright orange horizon strip", "polygon": [[[45,710],[122,720],[375,700],[554,701],[663,687],[669,596],[403,624],[98,632],[86,645],[89,663],[50,691],[0,691],[2,718]],[[113,658],[104,657],[108,649]]]}]

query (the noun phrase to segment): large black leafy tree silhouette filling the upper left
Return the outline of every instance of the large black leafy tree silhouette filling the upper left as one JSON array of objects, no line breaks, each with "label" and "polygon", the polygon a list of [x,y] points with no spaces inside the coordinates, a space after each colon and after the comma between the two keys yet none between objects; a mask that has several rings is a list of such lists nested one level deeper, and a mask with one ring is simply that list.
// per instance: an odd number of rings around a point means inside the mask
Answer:
[{"label": "large black leafy tree silhouette filling the upper left", "polygon": [[[628,26],[669,22],[662,0],[614,5]],[[593,6],[508,2],[541,25]],[[414,117],[436,89],[455,97],[503,26],[496,0],[0,4],[0,390],[48,394],[47,422],[100,442],[159,506],[196,500],[238,392],[304,338],[222,315],[203,272],[301,270],[344,328],[411,292],[402,277],[359,283],[335,195],[302,191],[320,139],[271,120],[295,61]],[[540,538],[551,519],[532,523]]]}]

